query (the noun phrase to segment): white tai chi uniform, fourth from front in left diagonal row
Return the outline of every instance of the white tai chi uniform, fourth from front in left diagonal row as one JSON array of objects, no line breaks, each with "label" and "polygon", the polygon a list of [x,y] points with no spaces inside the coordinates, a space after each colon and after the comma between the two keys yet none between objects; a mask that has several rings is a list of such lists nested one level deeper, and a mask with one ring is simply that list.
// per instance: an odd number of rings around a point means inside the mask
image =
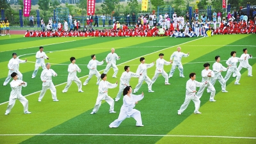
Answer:
[{"label": "white tai chi uniform, fourth from front in left diagonal row", "polygon": [[84,81],[83,85],[88,84],[88,82],[90,81],[90,79],[92,78],[93,75],[95,75],[97,77],[96,84],[100,83],[100,73],[97,70],[97,65],[102,65],[103,63],[104,63],[104,61],[99,62],[99,61],[93,60],[93,59],[89,61],[87,68],[90,70],[90,72],[89,72],[88,78]]}]

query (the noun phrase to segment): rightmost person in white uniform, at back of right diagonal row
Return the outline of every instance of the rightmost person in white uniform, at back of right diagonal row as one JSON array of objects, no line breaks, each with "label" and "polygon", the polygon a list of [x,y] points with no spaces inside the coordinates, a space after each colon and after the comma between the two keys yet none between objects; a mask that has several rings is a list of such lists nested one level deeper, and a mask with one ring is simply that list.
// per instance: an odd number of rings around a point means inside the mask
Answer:
[{"label": "rightmost person in white uniform, at back of right diagonal row", "polygon": [[[245,48],[243,49],[243,54],[241,55],[241,59],[244,59],[244,61],[240,61],[239,66],[237,67],[237,70],[240,72],[242,68],[248,69],[248,77],[252,77],[252,66],[249,64],[249,59],[252,58],[251,54],[248,54],[248,50]],[[233,77],[236,77],[236,74],[233,73]]]}]

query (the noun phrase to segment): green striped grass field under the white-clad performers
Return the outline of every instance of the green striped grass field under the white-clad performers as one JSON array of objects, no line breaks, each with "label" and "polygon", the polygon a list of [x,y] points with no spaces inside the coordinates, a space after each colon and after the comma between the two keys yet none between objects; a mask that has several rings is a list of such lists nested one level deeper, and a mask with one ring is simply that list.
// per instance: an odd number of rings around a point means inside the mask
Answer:
[{"label": "green striped grass field under the white-clad performers", "polygon": [[[237,51],[237,56],[243,54],[243,48],[256,56],[256,35],[214,35],[207,38],[170,38],[170,37],[99,37],[99,38],[23,38],[22,35],[3,36],[0,39],[0,143],[256,143],[256,108],[255,108],[255,76],[256,59],[250,59],[253,67],[253,77],[248,77],[245,68],[241,70],[240,85],[234,85],[235,78],[227,81],[228,93],[221,92],[220,83],[216,82],[216,102],[209,102],[209,93],[204,92],[200,104],[201,115],[193,114],[195,109],[191,102],[182,113],[177,110],[184,102],[186,81],[191,72],[196,72],[196,80],[201,81],[201,71],[206,62],[214,63],[216,55],[221,56],[222,65],[230,58],[231,51]],[[38,102],[42,81],[39,68],[35,79],[31,79],[35,68],[35,53],[44,45],[44,51],[49,56],[45,62],[51,63],[51,68],[58,74],[52,81],[56,85],[59,102],[52,102],[51,92],[47,90],[42,102]],[[117,113],[108,113],[109,105],[102,101],[99,111],[90,115],[98,93],[96,77],[83,86],[84,93],[77,92],[76,83],[72,83],[67,93],[61,93],[67,82],[67,68],[71,56],[76,57],[76,63],[82,72],[77,73],[82,83],[88,77],[86,67],[91,60],[90,55],[96,54],[97,60],[106,58],[111,48],[121,57],[116,61],[119,71],[118,78],[112,78],[113,69],[108,72],[110,83],[119,81],[124,66],[129,65],[136,72],[140,57],[145,57],[146,63],[156,61],[160,52],[164,59],[169,60],[176,48],[182,47],[182,52],[189,52],[188,58],[183,58],[185,78],[179,77],[176,68],[171,85],[164,85],[164,77],[159,76],[153,84],[154,93],[148,93],[147,84],[143,83],[140,90],[145,93],[136,109],[141,111],[145,127],[136,127],[133,118],[127,118],[117,129],[109,129],[108,125],[115,120],[120,112],[122,100],[115,102]],[[10,84],[3,86],[8,74],[8,61],[16,52],[23,80],[28,83],[22,88],[22,95],[29,100],[31,115],[24,115],[22,104],[17,100],[9,115],[4,115],[10,96]],[[98,67],[103,72],[106,63]],[[169,73],[172,66],[164,66]],[[148,77],[152,78],[156,67],[148,69]],[[224,77],[226,72],[222,72]],[[138,78],[132,78],[130,84],[135,88]],[[198,90],[198,89],[197,89]],[[109,89],[108,94],[115,98],[118,87]],[[122,99],[122,98],[121,98]]]}]

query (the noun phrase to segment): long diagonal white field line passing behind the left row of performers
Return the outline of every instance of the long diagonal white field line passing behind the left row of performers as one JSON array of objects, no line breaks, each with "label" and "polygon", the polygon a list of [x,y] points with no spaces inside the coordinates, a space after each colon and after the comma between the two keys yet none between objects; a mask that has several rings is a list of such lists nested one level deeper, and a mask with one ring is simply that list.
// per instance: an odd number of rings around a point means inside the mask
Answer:
[{"label": "long diagonal white field line passing behind the left row of performers", "polygon": [[[202,37],[202,38],[204,38],[204,37]],[[198,39],[196,39],[196,40],[200,40],[200,39],[201,39],[201,38],[198,38]],[[193,41],[196,41],[196,40],[191,40],[191,41],[189,41],[189,42],[193,42]],[[187,44],[187,43],[189,43],[189,42],[184,42],[183,44]],[[183,44],[179,44],[179,45],[183,45]],[[177,47],[177,46],[179,46],[179,45],[173,45],[172,47]],[[170,49],[170,48],[172,48],[172,47],[166,47],[166,48],[161,49],[161,50],[159,50],[159,51],[164,51],[165,49]],[[147,55],[150,55],[150,54],[154,54],[154,53],[159,52],[159,51],[151,52],[151,53],[145,54],[145,55],[143,55],[143,56],[147,56]],[[141,58],[141,57],[142,57],[142,56],[140,56],[140,57],[138,57],[138,58]],[[133,61],[133,60],[136,60],[136,59],[138,59],[138,58],[134,58],[134,59],[129,60],[129,61]],[[129,62],[129,61],[125,61],[124,63],[127,63],[127,62]],[[118,65],[122,65],[122,64],[124,64],[124,63],[120,63],[120,64],[118,64]],[[99,72],[102,72],[102,71],[103,71],[103,70],[100,70]],[[86,75],[86,76],[88,76],[88,75]],[[86,77],[86,76],[83,76],[83,77]],[[79,79],[81,79],[81,78],[83,78],[83,77],[79,77]],[[66,83],[67,83],[67,82],[61,83],[61,84],[58,84],[58,85],[56,85],[56,86],[60,86],[60,85],[62,85],[62,84],[66,84]],[[55,86],[55,87],[56,87],[56,86]],[[38,92],[41,92],[41,90],[38,91]],[[38,93],[38,92],[33,92],[33,93],[28,94],[28,95],[24,95],[24,97],[28,97],[29,95],[33,95],[33,94]],[[7,101],[7,102],[9,102],[9,101]],[[3,105],[3,104],[5,104],[5,103],[7,103],[7,102],[3,102],[3,103],[1,103],[0,105]]]}]

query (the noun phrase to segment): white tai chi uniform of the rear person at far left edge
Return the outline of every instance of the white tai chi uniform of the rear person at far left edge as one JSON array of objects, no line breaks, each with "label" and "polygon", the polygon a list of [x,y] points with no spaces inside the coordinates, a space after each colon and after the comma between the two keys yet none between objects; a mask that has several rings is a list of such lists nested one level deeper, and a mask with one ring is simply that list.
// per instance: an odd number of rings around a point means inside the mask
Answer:
[{"label": "white tai chi uniform of the rear person at far left edge", "polygon": [[[19,71],[20,63],[26,63],[26,60],[19,60],[19,58],[12,58],[8,63],[8,76],[6,77],[4,81],[4,86],[9,83],[9,81],[12,79],[11,74],[13,72],[16,72],[18,75],[18,79],[22,80],[22,74]],[[13,69],[13,70],[12,70]]]}]

